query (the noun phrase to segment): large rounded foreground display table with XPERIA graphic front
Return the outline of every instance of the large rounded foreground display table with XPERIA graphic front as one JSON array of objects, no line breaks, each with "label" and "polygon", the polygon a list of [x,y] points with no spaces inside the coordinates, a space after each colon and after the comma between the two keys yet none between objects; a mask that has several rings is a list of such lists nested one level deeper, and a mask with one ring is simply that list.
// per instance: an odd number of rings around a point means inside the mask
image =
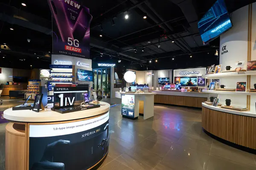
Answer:
[{"label": "large rounded foreground display table with XPERIA graphic front", "polygon": [[46,109],[4,111],[6,170],[90,169],[108,153],[110,105],[61,114]]}]

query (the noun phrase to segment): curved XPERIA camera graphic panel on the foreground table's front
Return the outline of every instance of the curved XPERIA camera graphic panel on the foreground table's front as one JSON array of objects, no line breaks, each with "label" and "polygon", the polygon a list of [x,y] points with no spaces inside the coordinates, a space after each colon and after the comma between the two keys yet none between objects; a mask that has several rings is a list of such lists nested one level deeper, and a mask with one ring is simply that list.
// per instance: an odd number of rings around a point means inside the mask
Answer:
[{"label": "curved XPERIA camera graphic panel on the foreground table's front", "polygon": [[87,170],[107,153],[109,113],[79,122],[29,125],[29,170]]}]

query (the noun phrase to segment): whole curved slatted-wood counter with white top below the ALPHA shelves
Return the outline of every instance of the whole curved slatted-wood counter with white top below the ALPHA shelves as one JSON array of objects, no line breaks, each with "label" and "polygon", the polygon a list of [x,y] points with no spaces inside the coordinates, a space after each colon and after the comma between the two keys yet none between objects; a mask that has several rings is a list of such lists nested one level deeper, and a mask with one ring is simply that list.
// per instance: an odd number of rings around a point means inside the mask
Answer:
[{"label": "whole curved slatted-wood counter with white top below the ALPHA shelves", "polygon": [[204,132],[220,142],[256,153],[256,113],[202,103],[202,127]]}]

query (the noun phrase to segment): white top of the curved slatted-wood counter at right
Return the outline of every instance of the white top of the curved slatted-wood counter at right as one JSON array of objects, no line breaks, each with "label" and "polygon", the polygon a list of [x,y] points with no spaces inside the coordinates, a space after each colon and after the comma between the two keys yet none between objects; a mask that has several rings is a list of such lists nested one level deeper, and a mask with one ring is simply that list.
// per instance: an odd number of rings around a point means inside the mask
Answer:
[{"label": "white top of the curved slatted-wood counter at right", "polygon": [[221,111],[221,112],[225,112],[225,113],[237,114],[237,115],[242,115],[242,116],[256,117],[256,113],[251,113],[250,111],[235,111],[235,110],[215,107],[212,105],[207,105],[205,103],[202,103],[202,106],[204,106],[205,108],[215,110],[215,111]]}]

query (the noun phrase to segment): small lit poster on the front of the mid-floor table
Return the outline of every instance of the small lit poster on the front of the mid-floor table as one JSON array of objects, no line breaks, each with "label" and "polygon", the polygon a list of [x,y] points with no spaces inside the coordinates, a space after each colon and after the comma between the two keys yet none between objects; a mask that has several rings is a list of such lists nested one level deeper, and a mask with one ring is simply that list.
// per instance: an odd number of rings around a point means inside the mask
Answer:
[{"label": "small lit poster on the front of the mid-floor table", "polygon": [[122,115],[134,117],[134,95],[122,95],[121,110]]}]

